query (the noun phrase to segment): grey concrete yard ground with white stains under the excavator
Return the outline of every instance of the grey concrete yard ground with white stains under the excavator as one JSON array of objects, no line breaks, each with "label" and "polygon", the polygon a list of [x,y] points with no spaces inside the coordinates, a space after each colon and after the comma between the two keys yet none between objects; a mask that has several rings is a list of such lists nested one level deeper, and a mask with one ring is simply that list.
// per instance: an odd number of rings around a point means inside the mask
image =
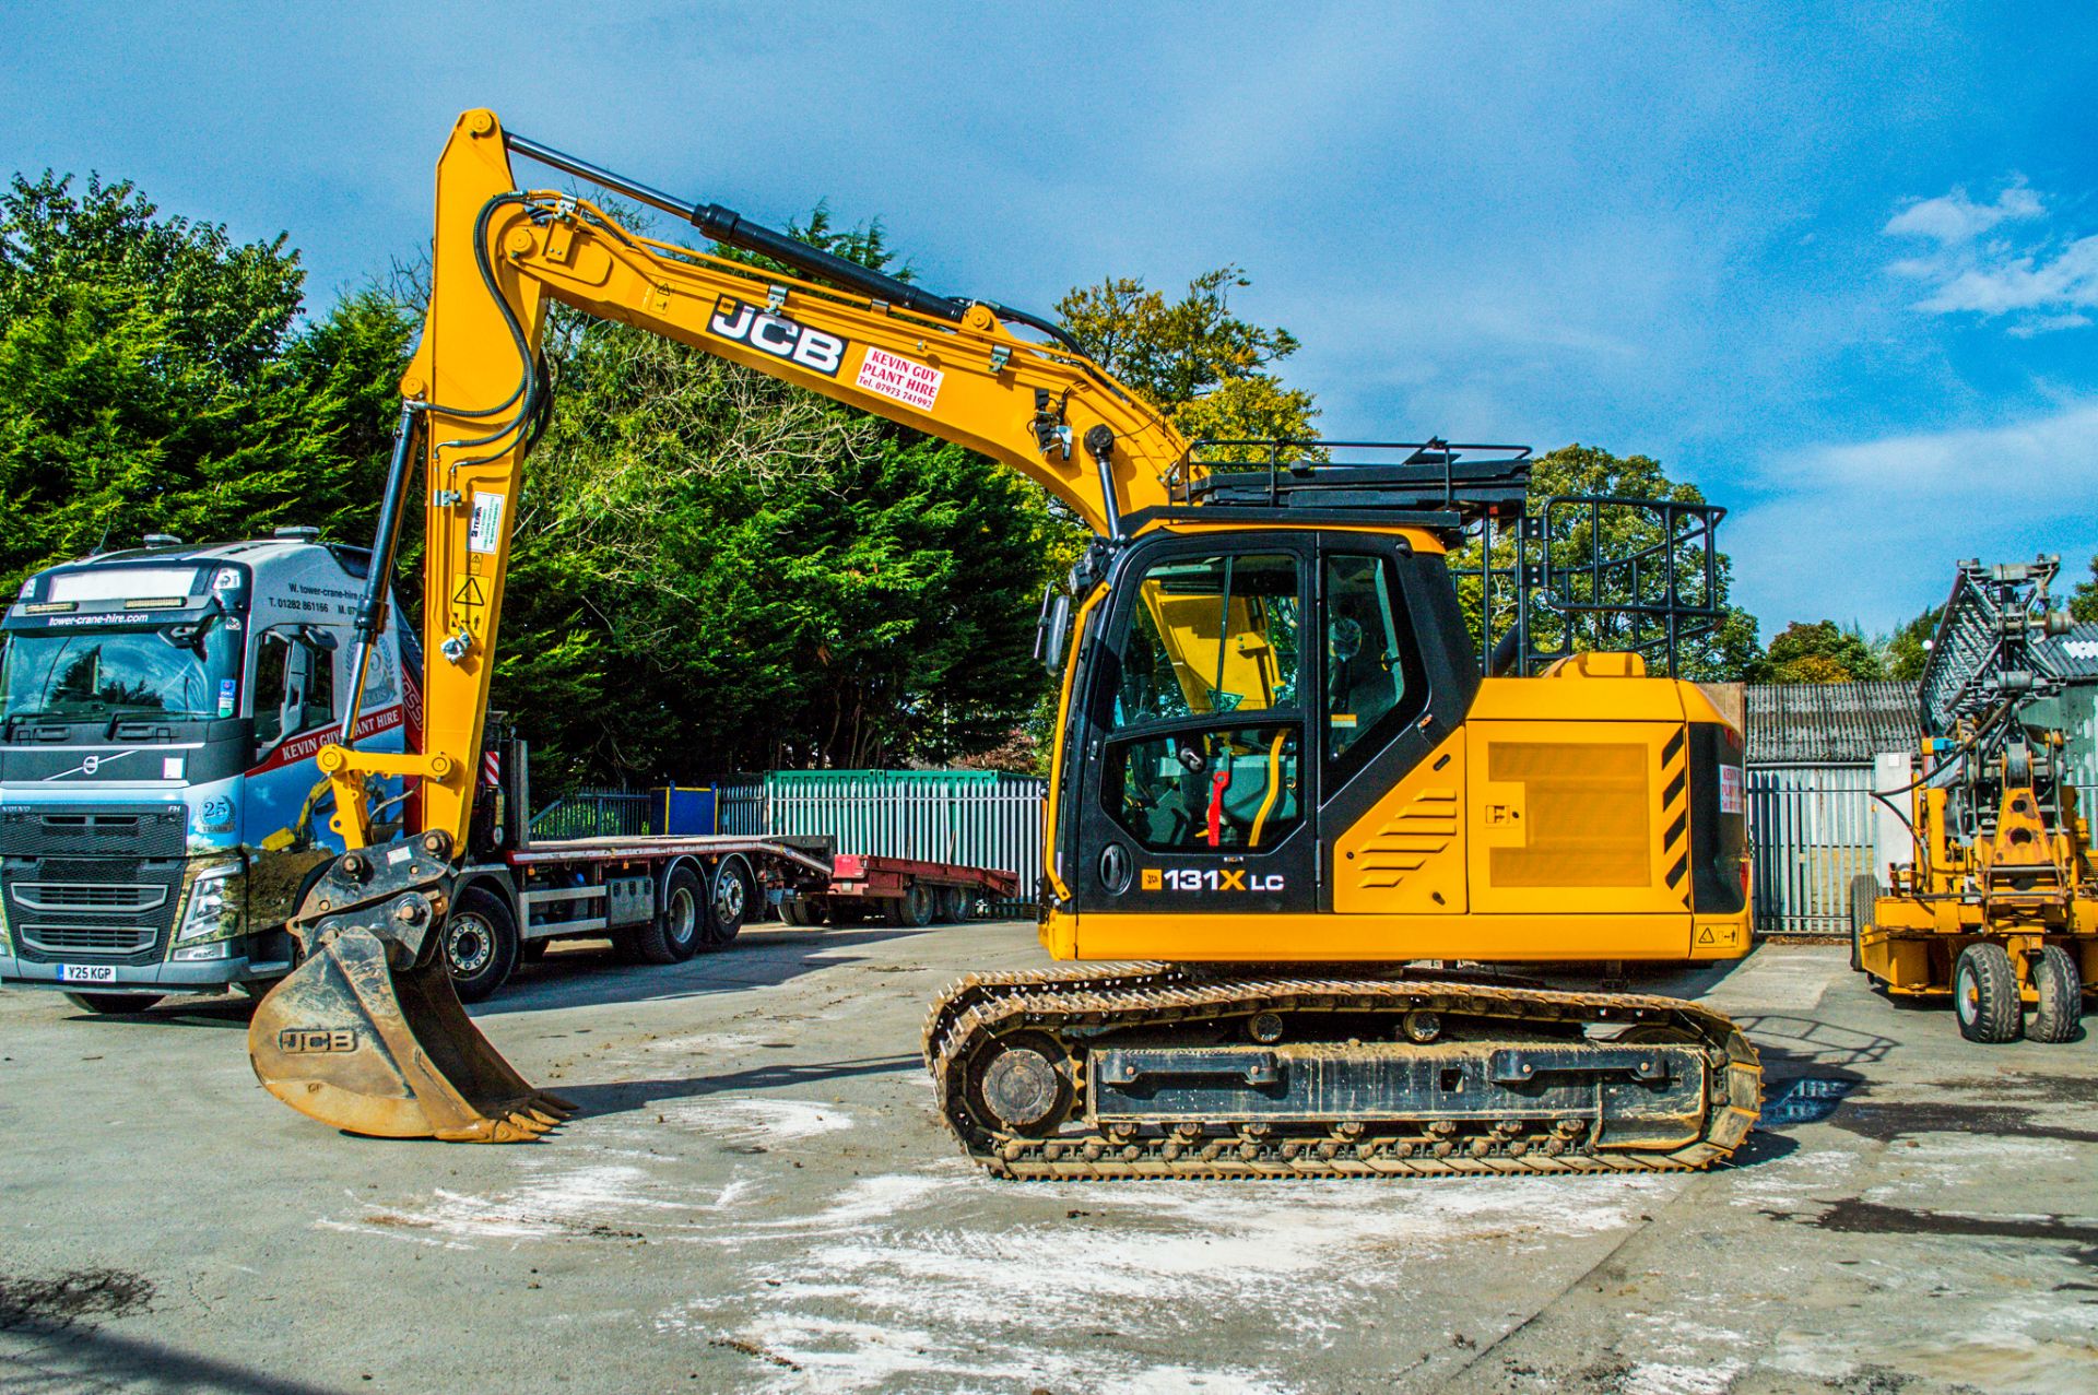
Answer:
[{"label": "grey concrete yard ground with white stains under the excavator", "polygon": [[583,1106],[522,1147],[275,1103],[245,1005],[0,994],[8,1391],[2090,1391],[2098,1053],[1972,1047],[1834,946],[1645,978],[1737,1015],[1718,1173],[999,1183],[917,1059],[1026,925],[564,950],[478,1011]]}]

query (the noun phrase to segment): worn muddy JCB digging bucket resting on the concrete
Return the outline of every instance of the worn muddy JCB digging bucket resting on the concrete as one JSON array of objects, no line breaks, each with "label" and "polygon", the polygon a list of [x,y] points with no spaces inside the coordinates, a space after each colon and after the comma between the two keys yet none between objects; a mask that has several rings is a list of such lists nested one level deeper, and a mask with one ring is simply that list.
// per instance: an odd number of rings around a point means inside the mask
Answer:
[{"label": "worn muddy JCB digging bucket resting on the concrete", "polygon": [[411,860],[371,877],[376,862],[340,858],[294,921],[304,963],[248,1026],[262,1087],[323,1124],[384,1139],[520,1143],[575,1114],[533,1089],[459,1005],[436,952],[447,898],[415,879],[443,868]]}]

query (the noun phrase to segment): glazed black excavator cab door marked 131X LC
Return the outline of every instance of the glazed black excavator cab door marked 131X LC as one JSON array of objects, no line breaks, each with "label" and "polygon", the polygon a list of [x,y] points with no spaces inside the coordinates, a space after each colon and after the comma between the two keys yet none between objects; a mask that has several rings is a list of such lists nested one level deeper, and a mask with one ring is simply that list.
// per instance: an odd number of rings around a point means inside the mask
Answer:
[{"label": "glazed black excavator cab door marked 131X LC", "polygon": [[1143,539],[1085,657],[1083,910],[1318,906],[1315,543],[1290,533]]}]

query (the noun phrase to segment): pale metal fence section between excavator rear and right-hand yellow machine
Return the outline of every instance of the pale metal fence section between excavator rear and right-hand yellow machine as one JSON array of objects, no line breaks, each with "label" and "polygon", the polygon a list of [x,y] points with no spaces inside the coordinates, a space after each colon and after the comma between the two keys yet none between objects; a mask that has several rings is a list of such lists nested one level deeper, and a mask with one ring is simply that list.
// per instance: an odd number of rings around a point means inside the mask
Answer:
[{"label": "pale metal fence section between excavator rear and right-hand yellow machine", "polygon": [[1758,936],[1848,936],[1850,879],[1874,871],[1871,766],[1750,766]]}]

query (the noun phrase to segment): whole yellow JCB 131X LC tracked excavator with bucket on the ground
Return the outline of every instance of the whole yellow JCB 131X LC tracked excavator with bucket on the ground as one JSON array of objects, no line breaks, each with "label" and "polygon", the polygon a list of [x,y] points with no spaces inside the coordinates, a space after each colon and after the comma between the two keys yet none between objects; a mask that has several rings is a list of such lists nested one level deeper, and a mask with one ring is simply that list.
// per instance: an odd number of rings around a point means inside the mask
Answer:
[{"label": "whole yellow JCB 131X LC tracked excavator with bucket on the ground", "polygon": [[[512,155],[793,275],[529,191]],[[1599,585],[1563,592],[1557,654],[1517,606],[1498,675],[1481,673],[1450,550],[1487,531],[1490,617],[1567,552],[1525,514],[1527,451],[1190,443],[1047,321],[673,199],[491,111],[462,115],[438,162],[428,321],[346,684],[355,711],[420,466],[424,749],[323,751],[348,852],[306,896],[304,961],[250,1030],[279,1099],[352,1133],[478,1141],[571,1112],[480,1036],[436,954],[554,302],[982,451],[1095,535],[1041,621],[1062,675],[1041,940],[1074,963],[967,975],[925,1028],[940,1110],[980,1164],[1613,1173],[1708,1166],[1748,1135],[1760,1066],[1722,1015],[1460,969],[1750,948],[1741,732],[1722,705],[1647,678],[1636,652],[1578,652]],[[1680,615],[1710,615],[1716,512],[1706,592],[1674,594],[1670,512],[1630,558],[1618,619],[1674,638]],[[380,776],[420,780],[422,822],[371,845]]]}]

